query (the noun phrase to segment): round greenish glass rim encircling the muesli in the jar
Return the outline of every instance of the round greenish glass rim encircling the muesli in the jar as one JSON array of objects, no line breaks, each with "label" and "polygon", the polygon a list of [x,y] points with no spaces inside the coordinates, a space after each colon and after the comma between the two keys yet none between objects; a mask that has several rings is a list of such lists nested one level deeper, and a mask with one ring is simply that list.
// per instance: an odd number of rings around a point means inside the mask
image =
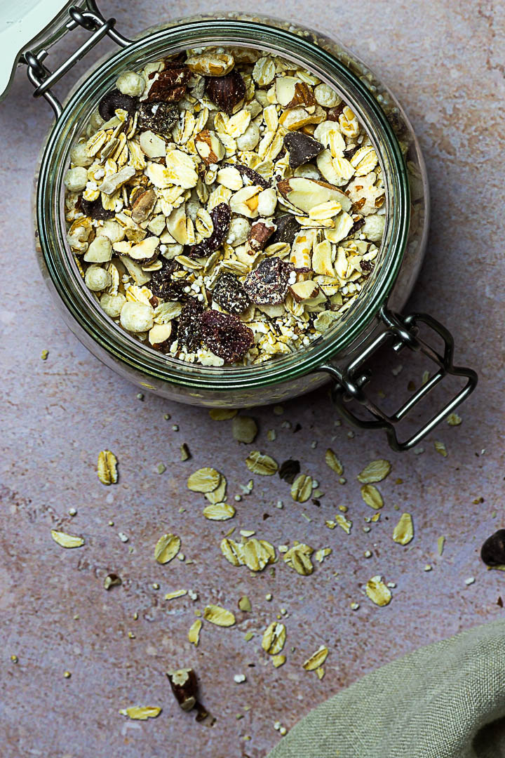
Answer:
[{"label": "round greenish glass rim encircling the muesli in the jar", "polygon": [[[230,14],[219,18],[182,19],[151,33],[146,30],[131,45],[98,64],[92,75],[74,89],[48,136],[39,171],[36,212],[40,248],[52,283],[70,315],[92,340],[115,359],[141,371],[146,379],[151,376],[154,381],[179,384],[196,392],[233,391],[278,384],[286,378],[316,371],[366,330],[387,300],[400,270],[410,221],[410,193],[401,147],[388,117],[371,91],[366,75],[358,75],[348,64],[316,43],[316,39],[323,39],[321,36],[292,24],[286,30],[282,28],[285,23],[273,19],[258,20],[242,14],[238,18]],[[61,188],[70,147],[96,106],[98,90],[101,88],[100,92],[106,92],[111,89],[120,71],[136,61],[208,45],[257,48],[291,58],[343,92],[376,148],[386,182],[387,224],[381,247],[382,262],[374,280],[367,283],[366,292],[357,298],[349,316],[326,333],[328,336],[314,340],[311,346],[289,356],[274,357],[260,365],[204,367],[189,364],[155,352],[130,337],[85,291],[67,249],[64,221],[62,224]],[[342,50],[345,52],[344,48]],[[85,302],[86,308],[83,308]],[[149,386],[148,381],[145,386]]]}]

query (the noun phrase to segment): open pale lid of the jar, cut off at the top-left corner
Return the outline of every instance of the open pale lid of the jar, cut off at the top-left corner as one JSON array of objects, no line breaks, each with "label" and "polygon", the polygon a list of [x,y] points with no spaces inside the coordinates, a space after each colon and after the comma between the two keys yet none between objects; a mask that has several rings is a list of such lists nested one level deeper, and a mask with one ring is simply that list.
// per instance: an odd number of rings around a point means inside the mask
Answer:
[{"label": "open pale lid of the jar, cut off at the top-left corner", "polygon": [[71,5],[86,0],[17,0],[0,2],[0,100],[8,94],[23,52],[48,49],[66,31]]}]

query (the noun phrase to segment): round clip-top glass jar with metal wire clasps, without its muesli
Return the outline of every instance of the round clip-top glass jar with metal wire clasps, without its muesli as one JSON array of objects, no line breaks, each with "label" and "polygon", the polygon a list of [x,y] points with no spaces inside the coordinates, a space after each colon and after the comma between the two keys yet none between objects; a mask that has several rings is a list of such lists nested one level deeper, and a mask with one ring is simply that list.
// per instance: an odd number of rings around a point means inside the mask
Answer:
[{"label": "round clip-top glass jar with metal wire clasps, without its muesli", "polygon": [[[226,14],[192,17],[146,30],[130,41],[104,20],[93,0],[87,11],[70,10],[72,23],[92,32],[83,45],[108,34],[120,49],[102,59],[73,88],[64,107],[51,92],[83,48],[54,74],[37,52],[28,51],[30,80],[55,110],[39,167],[36,189],[36,238],[42,272],[61,313],[76,337],[117,374],[143,389],[199,406],[238,408],[282,402],[332,380],[332,396],[339,411],[366,428],[383,428],[394,449],[415,445],[445,418],[475,387],[471,369],[454,368],[452,338],[437,321],[426,315],[397,315],[416,280],[426,249],[429,223],[429,191],[426,170],[416,137],[404,112],[391,93],[369,69],[340,43],[319,33],[281,20]],[[94,44],[94,42],[93,42]],[[310,347],[260,365],[204,367],[181,362],[135,340],[101,310],[86,289],[66,241],[63,177],[70,149],[97,102],[114,88],[123,70],[143,67],[149,61],[173,55],[189,47],[223,45],[260,49],[303,65],[328,83],[351,106],[365,127],[379,156],[386,187],[385,235],[378,265],[366,288],[347,315]],[[84,51],[86,52],[86,51]],[[45,51],[42,51],[45,58]],[[442,337],[444,352],[435,351],[417,336],[424,324]],[[366,395],[369,375],[363,363],[382,346],[423,352],[435,362],[429,381],[395,414],[386,415]],[[466,384],[454,398],[408,440],[397,439],[396,424],[446,374],[461,375]],[[349,399],[366,408],[368,418],[352,410]]]}]

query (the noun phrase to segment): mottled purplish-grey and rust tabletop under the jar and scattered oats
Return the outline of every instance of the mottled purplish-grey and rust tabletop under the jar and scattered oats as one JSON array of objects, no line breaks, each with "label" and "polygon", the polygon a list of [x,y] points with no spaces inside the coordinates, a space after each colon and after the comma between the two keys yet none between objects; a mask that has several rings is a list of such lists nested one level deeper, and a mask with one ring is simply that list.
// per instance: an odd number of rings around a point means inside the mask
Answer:
[{"label": "mottled purplish-grey and rust tabletop under the jar and scattered oats", "polygon": [[[395,656],[497,619],[503,575],[479,562],[482,540],[503,519],[503,6],[491,2],[363,0],[359,7],[322,0],[310,7],[282,2],[276,13],[313,23],[347,42],[371,64],[407,109],[426,156],[432,185],[432,232],[426,264],[410,306],[447,324],[457,339],[457,357],[479,368],[478,391],[460,415],[423,443],[425,452],[395,456],[382,437],[334,426],[326,393],[272,408],[255,409],[260,424],[254,448],[280,461],[300,459],[302,470],[326,492],[320,508],[291,502],[288,485],[255,478],[254,492],[238,503],[233,522],[201,516],[203,496],[185,488],[187,475],[215,465],[232,496],[248,481],[245,446],[231,437],[229,421],[211,421],[205,410],[146,396],[117,379],[89,355],[61,321],[42,283],[33,255],[30,193],[39,146],[51,114],[33,102],[23,72],[0,108],[2,128],[2,553],[0,554],[0,730],[5,758],[177,758],[190,755],[259,758],[279,736],[273,723],[291,727],[315,703],[363,672]],[[219,7],[217,4],[214,7]],[[126,35],[167,17],[208,10],[182,2],[102,2]],[[258,2],[258,11],[272,10]],[[64,42],[51,63],[70,50]],[[101,46],[104,52],[107,45]],[[503,49],[502,49],[503,52]],[[98,52],[90,57],[98,55]],[[86,64],[81,62],[82,72]],[[62,89],[60,89],[62,91]],[[40,353],[48,349],[47,362]],[[406,365],[405,387],[419,382]],[[392,376],[385,371],[383,388]],[[164,414],[170,413],[170,421]],[[290,421],[293,427],[283,428]],[[179,425],[173,431],[172,424]],[[295,424],[301,430],[294,431]],[[267,430],[277,440],[267,440]],[[443,440],[447,458],[435,452]],[[179,461],[186,442],[192,460]],[[312,443],[317,446],[313,448]],[[331,445],[345,466],[347,484],[323,462]],[[95,475],[98,451],[109,448],[120,462],[120,482],[106,488]],[[356,475],[366,462],[387,457],[390,477],[379,485],[385,507],[379,524],[363,532],[371,515],[360,498]],[[167,465],[156,473],[158,462]],[[397,478],[402,484],[395,484]],[[274,507],[277,500],[285,509]],[[324,526],[336,506],[349,506],[351,536]],[[185,512],[179,513],[179,508]],[[398,512],[413,513],[416,537],[403,548],[391,541]],[[77,509],[73,518],[68,509]],[[494,512],[497,515],[493,515]],[[312,519],[308,522],[302,512]],[[263,514],[270,518],[263,521]],[[108,526],[110,520],[114,527]],[[249,575],[220,556],[226,529],[256,529],[274,544],[304,540],[333,548],[309,578],[280,565],[276,577]],[[50,528],[83,534],[86,546],[63,550]],[[122,543],[117,533],[129,535]],[[182,538],[185,556],[165,567],[153,559],[164,531]],[[438,557],[437,538],[447,537]],[[365,550],[373,557],[365,559]],[[432,572],[424,572],[426,563]],[[110,593],[109,572],[123,578]],[[335,573],[338,572],[338,576]],[[380,573],[397,583],[385,609],[362,597],[360,587]],[[475,584],[465,580],[475,577]],[[154,590],[158,582],[161,590]],[[200,600],[162,600],[179,587]],[[265,600],[271,592],[273,600]],[[195,609],[219,602],[236,610],[247,593],[251,614],[237,612],[238,625],[205,625],[200,646],[187,641]],[[504,596],[505,597],[505,596]],[[351,612],[350,603],[361,607]],[[279,609],[288,611],[288,662],[275,670],[260,650],[262,630]],[[139,613],[139,620],[133,615]],[[76,619],[78,615],[78,619]],[[136,635],[128,637],[128,632]],[[317,681],[301,662],[327,644],[326,677]],[[295,651],[291,652],[291,648]],[[10,656],[17,654],[17,665]],[[195,666],[204,702],[217,717],[214,728],[179,712],[164,671]],[[65,670],[72,672],[65,679]],[[235,684],[244,672],[248,681]],[[127,722],[118,710],[132,704],[163,706],[154,722]],[[236,719],[242,714],[243,719]],[[245,740],[250,736],[250,740]]]}]

